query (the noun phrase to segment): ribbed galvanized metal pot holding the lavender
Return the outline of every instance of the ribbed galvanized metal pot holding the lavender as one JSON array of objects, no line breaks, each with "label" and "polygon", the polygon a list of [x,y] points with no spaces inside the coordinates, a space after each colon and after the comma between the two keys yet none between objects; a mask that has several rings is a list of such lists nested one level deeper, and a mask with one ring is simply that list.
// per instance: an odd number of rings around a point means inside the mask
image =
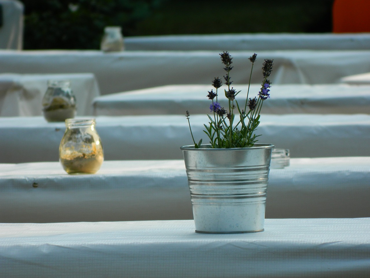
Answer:
[{"label": "ribbed galvanized metal pot holding the lavender", "polygon": [[212,149],[183,146],[195,232],[262,232],[273,145]]}]

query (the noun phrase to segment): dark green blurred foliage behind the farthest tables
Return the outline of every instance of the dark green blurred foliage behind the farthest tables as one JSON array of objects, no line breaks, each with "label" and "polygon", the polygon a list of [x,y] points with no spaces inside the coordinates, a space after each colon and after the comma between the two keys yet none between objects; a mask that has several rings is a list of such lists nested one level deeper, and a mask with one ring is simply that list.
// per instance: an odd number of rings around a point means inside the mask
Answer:
[{"label": "dark green blurred foliage behind the farthest tables", "polygon": [[124,37],[325,33],[333,0],[23,0],[24,49],[100,49],[105,26]]}]

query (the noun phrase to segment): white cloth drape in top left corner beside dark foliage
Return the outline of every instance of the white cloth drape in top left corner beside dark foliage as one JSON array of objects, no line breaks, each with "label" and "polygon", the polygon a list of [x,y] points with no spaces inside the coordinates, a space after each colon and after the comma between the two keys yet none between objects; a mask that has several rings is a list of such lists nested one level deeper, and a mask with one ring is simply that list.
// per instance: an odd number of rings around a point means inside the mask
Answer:
[{"label": "white cloth drape in top left corner beside dark foliage", "polygon": [[0,49],[23,48],[24,5],[17,0],[0,0],[3,26],[0,27]]}]

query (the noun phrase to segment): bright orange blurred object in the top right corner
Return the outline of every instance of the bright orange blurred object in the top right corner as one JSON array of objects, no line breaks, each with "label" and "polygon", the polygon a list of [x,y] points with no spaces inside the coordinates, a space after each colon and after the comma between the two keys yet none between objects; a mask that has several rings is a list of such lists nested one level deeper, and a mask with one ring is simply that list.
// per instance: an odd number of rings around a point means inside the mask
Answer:
[{"label": "bright orange blurred object in the top right corner", "polygon": [[335,0],[333,33],[370,32],[370,0]]}]

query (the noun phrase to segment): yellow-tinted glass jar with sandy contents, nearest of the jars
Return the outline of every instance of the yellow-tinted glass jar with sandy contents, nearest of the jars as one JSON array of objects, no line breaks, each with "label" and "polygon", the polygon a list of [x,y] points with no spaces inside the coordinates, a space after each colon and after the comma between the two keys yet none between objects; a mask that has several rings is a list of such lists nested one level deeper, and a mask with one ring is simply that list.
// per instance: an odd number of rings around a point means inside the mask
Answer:
[{"label": "yellow-tinted glass jar with sandy contents, nearest of the jars", "polygon": [[94,174],[104,160],[95,119],[67,119],[59,146],[59,160],[68,174]]}]

